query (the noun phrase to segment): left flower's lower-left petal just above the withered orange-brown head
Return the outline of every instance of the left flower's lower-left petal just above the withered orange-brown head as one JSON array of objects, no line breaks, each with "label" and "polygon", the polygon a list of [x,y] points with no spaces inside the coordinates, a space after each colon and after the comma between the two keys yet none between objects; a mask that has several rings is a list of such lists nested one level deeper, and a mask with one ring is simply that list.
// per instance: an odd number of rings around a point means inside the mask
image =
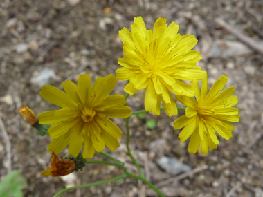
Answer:
[{"label": "left flower's lower-left petal just above the withered orange-brown head", "polygon": [[48,145],[48,151],[54,152],[57,155],[69,144],[70,139],[71,135],[62,135],[59,138],[53,139]]}]

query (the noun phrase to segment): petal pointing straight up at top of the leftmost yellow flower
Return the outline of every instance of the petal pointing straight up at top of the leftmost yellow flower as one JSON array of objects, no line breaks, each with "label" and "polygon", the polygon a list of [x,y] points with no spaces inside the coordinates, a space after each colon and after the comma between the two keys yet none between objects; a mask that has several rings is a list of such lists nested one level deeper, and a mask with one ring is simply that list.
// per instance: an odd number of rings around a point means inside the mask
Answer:
[{"label": "petal pointing straight up at top of the leftmost yellow flower", "polygon": [[82,95],[83,102],[86,104],[91,95],[91,77],[89,74],[80,75],[80,77],[78,77],[78,88]]}]

